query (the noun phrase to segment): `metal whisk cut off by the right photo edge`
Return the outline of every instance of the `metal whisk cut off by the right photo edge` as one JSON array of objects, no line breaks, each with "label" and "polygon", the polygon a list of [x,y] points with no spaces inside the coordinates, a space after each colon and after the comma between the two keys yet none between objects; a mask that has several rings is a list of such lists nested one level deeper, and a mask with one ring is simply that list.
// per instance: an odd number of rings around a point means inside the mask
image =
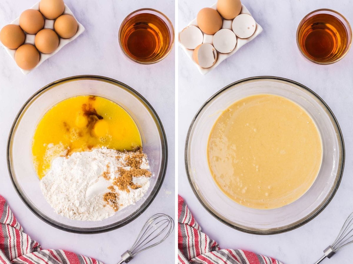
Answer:
[{"label": "metal whisk cut off by the right photo edge", "polygon": [[346,222],[343,224],[340,233],[337,235],[336,240],[331,246],[324,250],[324,256],[319,259],[315,264],[322,262],[325,258],[331,258],[337,251],[349,244],[353,243],[353,213],[351,213]]}]

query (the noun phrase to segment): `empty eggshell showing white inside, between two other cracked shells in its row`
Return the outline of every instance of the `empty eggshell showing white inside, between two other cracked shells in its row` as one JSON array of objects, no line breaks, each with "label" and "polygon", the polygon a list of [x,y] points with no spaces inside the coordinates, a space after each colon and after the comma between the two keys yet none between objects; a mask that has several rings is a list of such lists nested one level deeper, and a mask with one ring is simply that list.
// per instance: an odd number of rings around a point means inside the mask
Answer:
[{"label": "empty eggshell showing white inside, between two other cracked shells in its row", "polygon": [[237,36],[230,29],[221,29],[213,36],[213,46],[221,53],[232,52],[237,45]]}]

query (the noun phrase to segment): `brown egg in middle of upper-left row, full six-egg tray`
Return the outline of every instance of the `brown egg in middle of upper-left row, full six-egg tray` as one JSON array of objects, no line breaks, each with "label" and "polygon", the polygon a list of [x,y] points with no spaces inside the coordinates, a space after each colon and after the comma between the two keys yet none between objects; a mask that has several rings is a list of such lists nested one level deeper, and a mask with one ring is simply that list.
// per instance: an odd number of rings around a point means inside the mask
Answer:
[{"label": "brown egg in middle of upper-left row, full six-egg tray", "polygon": [[44,27],[44,18],[41,12],[27,9],[20,15],[20,27],[28,34],[36,34]]}]

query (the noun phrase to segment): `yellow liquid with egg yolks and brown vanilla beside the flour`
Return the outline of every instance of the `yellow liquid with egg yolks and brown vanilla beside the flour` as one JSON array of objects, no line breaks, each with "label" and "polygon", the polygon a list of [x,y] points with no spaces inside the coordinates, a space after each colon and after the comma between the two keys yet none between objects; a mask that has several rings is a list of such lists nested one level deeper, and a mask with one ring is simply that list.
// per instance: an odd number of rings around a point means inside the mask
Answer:
[{"label": "yellow liquid with egg yolks and brown vanilla beside the flour", "polygon": [[132,151],[142,147],[134,120],[118,104],[100,96],[80,95],[49,109],[32,142],[33,163],[41,179],[53,159],[73,152],[107,147]]}]

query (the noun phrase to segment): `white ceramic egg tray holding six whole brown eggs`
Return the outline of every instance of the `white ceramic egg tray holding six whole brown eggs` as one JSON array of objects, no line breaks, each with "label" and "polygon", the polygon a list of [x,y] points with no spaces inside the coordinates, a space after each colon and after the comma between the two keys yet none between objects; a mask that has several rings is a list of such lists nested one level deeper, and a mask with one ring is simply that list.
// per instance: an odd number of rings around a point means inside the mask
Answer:
[{"label": "white ceramic egg tray holding six whole brown eggs", "polygon": [[[32,6],[30,9],[35,9],[35,10],[38,10],[38,11],[39,11],[39,2],[38,2],[37,4],[35,4],[34,6]],[[62,14],[72,15],[72,16],[76,19],[76,17],[73,15],[73,13],[71,12],[70,8],[68,8],[67,5],[65,5],[65,10],[64,10],[64,13],[62,13]],[[43,28],[44,28],[44,29],[52,29],[52,30],[54,30],[54,22],[55,22],[55,19],[54,19],[54,20],[50,20],[50,19],[44,18],[44,20],[45,20],[45,22],[44,22],[44,27],[43,27]],[[14,24],[14,25],[18,25],[18,26],[19,26],[19,25],[20,25],[19,21],[20,21],[20,18],[18,17],[18,18],[16,18],[15,20],[13,20],[13,21],[11,22],[11,24]],[[53,51],[53,52],[50,53],[50,54],[43,54],[43,53],[40,52],[40,59],[39,59],[38,64],[36,65],[36,67],[34,67],[34,68],[31,69],[31,70],[23,70],[23,69],[19,68],[19,69],[22,71],[22,73],[23,73],[23,74],[29,74],[32,70],[34,70],[34,69],[37,68],[39,65],[41,65],[46,59],[52,57],[54,54],[56,54],[56,52],[58,52],[59,50],[61,50],[62,47],[64,47],[66,44],[70,43],[72,40],[74,40],[75,38],[77,38],[80,34],[82,34],[83,31],[85,31],[85,28],[83,27],[83,25],[81,25],[81,24],[78,22],[77,19],[76,19],[76,21],[77,21],[78,27],[77,27],[77,32],[76,32],[76,34],[74,34],[73,37],[71,37],[71,38],[60,38],[60,37],[59,37],[59,46],[58,46],[58,48],[57,48],[55,51]],[[35,34],[27,34],[27,33],[25,32],[25,36],[26,36],[26,38],[25,38],[23,44],[32,44],[32,45],[34,45]],[[3,45],[3,46],[4,46],[4,45]],[[5,48],[5,50],[7,51],[7,53],[8,53],[8,54],[13,58],[13,60],[15,61],[15,52],[16,52],[16,50],[11,50],[11,49],[9,49],[9,48],[6,48],[5,46],[4,46],[4,48]],[[15,63],[16,63],[16,62],[15,62]],[[17,65],[17,64],[16,64],[16,65]]]}]

